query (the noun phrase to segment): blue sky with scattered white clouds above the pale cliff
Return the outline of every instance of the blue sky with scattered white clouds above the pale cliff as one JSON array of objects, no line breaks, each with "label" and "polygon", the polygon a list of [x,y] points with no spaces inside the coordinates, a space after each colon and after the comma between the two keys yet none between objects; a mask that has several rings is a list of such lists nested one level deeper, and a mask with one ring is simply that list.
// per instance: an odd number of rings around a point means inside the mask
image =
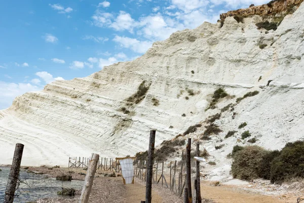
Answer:
[{"label": "blue sky with scattered white clouds above the pale cliff", "polygon": [[0,3],[0,109],[55,80],[141,56],[171,33],[264,0],[27,0]]}]

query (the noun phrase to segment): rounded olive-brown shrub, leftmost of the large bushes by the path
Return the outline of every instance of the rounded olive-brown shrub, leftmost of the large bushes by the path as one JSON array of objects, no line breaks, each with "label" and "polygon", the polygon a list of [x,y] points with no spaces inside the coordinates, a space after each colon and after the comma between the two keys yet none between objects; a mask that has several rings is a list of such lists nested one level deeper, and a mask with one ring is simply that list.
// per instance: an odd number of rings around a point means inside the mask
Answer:
[{"label": "rounded olive-brown shrub, leftmost of the large bushes by the path", "polygon": [[252,180],[258,178],[257,170],[267,151],[258,146],[247,146],[233,156],[231,172],[234,178]]}]

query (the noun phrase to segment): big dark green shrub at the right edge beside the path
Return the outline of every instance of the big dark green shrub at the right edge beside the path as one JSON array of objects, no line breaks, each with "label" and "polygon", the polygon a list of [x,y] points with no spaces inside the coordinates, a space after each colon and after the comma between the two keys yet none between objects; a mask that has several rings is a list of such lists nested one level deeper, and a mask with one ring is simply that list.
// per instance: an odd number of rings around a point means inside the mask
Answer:
[{"label": "big dark green shrub at the right edge beside the path", "polygon": [[287,143],[280,155],[271,163],[272,183],[282,183],[292,178],[304,178],[304,142]]}]

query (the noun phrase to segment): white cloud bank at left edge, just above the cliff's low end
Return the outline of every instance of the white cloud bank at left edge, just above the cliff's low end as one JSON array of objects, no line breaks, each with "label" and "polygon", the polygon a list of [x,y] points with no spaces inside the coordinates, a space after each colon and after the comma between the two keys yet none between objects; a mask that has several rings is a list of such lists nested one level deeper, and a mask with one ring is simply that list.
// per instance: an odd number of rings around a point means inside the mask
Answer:
[{"label": "white cloud bank at left edge, just above the cliff's low end", "polygon": [[6,109],[16,96],[20,96],[25,92],[39,91],[42,87],[37,87],[29,83],[7,83],[0,81],[0,109]]}]

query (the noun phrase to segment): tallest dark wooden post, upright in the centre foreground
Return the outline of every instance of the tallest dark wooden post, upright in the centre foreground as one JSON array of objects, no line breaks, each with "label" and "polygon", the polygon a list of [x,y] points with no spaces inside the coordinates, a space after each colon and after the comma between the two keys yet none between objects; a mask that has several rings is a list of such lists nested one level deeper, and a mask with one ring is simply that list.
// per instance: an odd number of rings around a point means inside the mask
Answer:
[{"label": "tallest dark wooden post, upright in the centre foreground", "polygon": [[147,168],[147,180],[146,180],[146,203],[152,202],[152,176],[153,176],[153,159],[154,159],[154,148],[155,148],[155,133],[156,130],[150,130],[150,140],[148,149],[148,162]]}]

